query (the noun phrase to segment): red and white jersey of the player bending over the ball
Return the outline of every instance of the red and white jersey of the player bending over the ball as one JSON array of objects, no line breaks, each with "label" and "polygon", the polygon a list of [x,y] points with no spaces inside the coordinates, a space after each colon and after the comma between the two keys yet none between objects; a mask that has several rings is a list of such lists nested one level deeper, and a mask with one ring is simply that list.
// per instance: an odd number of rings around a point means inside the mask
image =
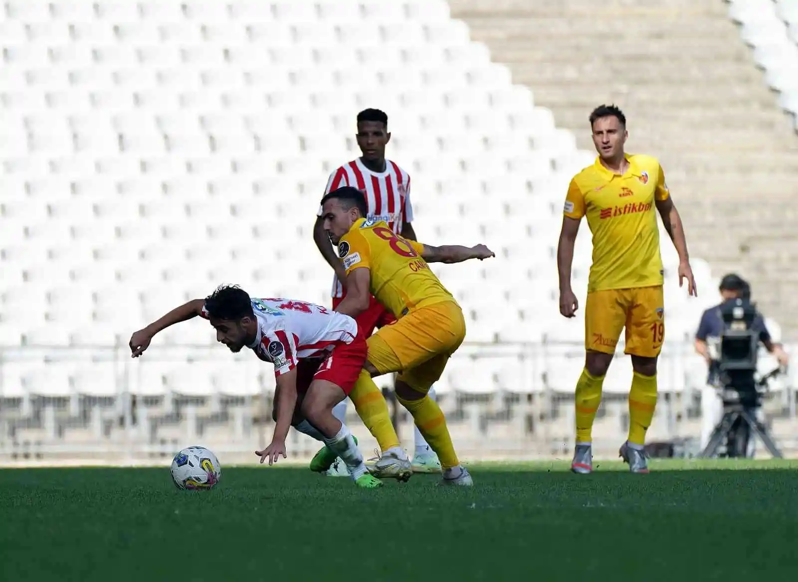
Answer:
[{"label": "red and white jersey of the player bending over the ball", "polygon": [[[275,364],[275,376],[290,372],[304,358],[324,358],[358,336],[354,319],[306,301],[253,299],[252,311],[258,333],[247,347],[261,360]],[[208,318],[204,308],[202,317]]]}]

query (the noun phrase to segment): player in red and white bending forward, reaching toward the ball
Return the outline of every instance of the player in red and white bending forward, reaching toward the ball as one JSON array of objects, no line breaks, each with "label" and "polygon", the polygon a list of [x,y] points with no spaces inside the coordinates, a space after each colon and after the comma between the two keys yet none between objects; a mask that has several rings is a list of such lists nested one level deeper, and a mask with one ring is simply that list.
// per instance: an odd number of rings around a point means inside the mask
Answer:
[{"label": "player in red and white bending forward, reaching toward the ball", "polygon": [[[286,457],[286,437],[294,426],[338,454],[358,486],[381,486],[366,469],[349,428],[332,413],[365,364],[365,336],[354,319],[304,301],[251,299],[243,289],[222,286],[133,333],[132,357],[140,356],[157,332],[197,316],[210,320],[216,340],[231,352],[247,347],[275,366],[275,433],[269,446],[256,451],[260,462],[268,459],[271,465],[280,454]],[[409,462],[394,464],[395,471],[382,474],[409,478]]]}]

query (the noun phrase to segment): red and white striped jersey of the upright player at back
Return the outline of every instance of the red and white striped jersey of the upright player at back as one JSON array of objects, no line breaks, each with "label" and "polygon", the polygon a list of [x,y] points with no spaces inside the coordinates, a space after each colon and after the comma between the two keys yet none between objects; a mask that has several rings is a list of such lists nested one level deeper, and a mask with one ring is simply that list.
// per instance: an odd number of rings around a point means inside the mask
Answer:
[{"label": "red and white striped jersey of the upright player at back", "polygon": [[[375,222],[385,221],[393,232],[401,233],[405,222],[413,222],[413,205],[410,203],[410,175],[389,159],[385,171],[374,172],[365,167],[361,159],[353,159],[330,174],[324,191],[329,194],[340,187],[358,188],[365,195],[369,215]],[[322,207],[318,207],[318,216]],[[333,277],[333,297],[343,297],[343,286]]]}]

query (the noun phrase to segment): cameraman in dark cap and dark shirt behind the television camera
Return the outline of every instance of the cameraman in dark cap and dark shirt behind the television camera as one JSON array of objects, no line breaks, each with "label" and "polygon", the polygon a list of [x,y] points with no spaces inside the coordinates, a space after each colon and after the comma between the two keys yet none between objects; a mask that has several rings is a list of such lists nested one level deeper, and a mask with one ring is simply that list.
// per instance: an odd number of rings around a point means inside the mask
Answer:
[{"label": "cameraman in dark cap and dark shirt behind the television camera", "polygon": [[[720,386],[720,362],[710,356],[709,342],[719,343],[725,327],[721,317],[721,305],[730,299],[750,298],[748,283],[733,273],[721,279],[720,292],[723,301],[701,315],[701,323],[698,324],[696,332],[696,352],[703,356],[709,367],[706,386],[701,391],[701,450],[709,442],[713,429],[721,422],[723,416],[723,400],[717,392],[717,387]],[[753,320],[752,331],[759,334],[760,342],[768,352],[776,356],[780,366],[787,366],[787,353],[780,344],[773,344],[768,328],[765,327],[764,318],[760,314],[757,314],[757,318]]]}]

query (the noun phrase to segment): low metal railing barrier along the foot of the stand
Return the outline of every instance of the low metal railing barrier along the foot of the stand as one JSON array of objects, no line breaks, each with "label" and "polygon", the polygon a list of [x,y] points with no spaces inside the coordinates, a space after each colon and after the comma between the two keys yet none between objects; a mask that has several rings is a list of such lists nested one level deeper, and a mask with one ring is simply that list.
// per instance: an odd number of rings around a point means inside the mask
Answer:
[{"label": "low metal railing barrier along the foot of the stand", "polygon": [[[624,359],[621,350],[617,360]],[[564,458],[582,367],[581,344],[464,344],[436,386],[458,449],[465,458]],[[616,361],[610,370],[596,421],[597,454],[611,454],[628,423],[630,364]],[[650,438],[695,436],[705,368],[692,344],[666,343],[659,370]],[[389,388],[392,382],[378,383]],[[126,345],[0,348],[0,459],[160,463],[203,442],[227,462],[252,462],[253,446],[271,438],[274,386],[271,365],[212,344],[156,340],[136,360]],[[782,380],[768,400],[768,413],[782,427],[777,438],[798,427],[794,386],[789,377]],[[412,419],[404,411],[397,419],[412,446]],[[364,450],[376,445],[352,407],[347,422]],[[294,459],[318,448],[295,431],[290,438]]]}]

